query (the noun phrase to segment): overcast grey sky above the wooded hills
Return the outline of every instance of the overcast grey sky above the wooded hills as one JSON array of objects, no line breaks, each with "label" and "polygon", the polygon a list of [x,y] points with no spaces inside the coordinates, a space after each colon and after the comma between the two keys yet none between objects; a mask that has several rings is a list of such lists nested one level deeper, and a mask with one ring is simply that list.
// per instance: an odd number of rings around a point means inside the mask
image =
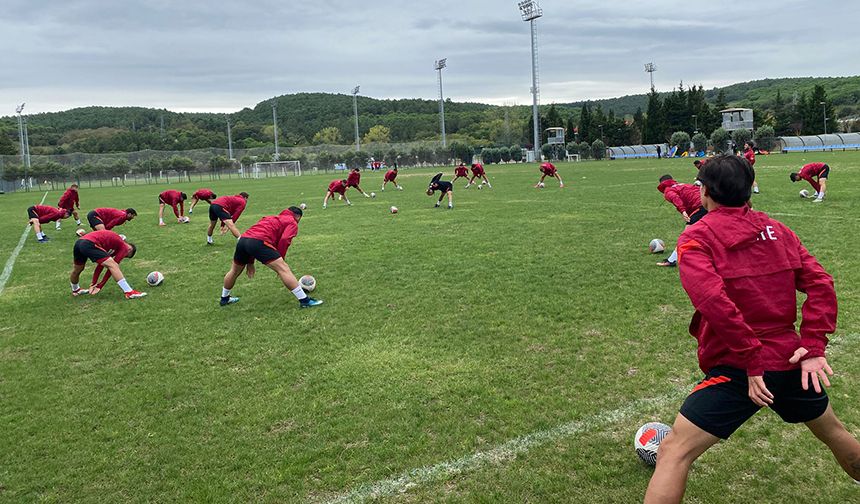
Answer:
[{"label": "overcast grey sky above the wooded hills", "polygon": [[[860,2],[544,0],[541,103],[860,74]],[[88,105],[230,112],[296,92],[529,104],[516,0],[2,0],[0,116]]]}]

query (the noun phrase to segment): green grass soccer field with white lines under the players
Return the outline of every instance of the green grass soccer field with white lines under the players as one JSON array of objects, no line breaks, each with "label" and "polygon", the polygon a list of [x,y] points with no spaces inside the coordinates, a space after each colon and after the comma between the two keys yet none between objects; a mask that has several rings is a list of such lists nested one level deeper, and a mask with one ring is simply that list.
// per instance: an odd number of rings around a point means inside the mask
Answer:
[{"label": "green grass soccer field with white lines under the players", "polygon": [[[823,204],[788,178],[811,161],[832,167]],[[756,166],[754,206],[836,280],[829,393],[860,436],[860,154]],[[671,424],[701,378],[677,270],[648,254],[683,230],[657,179],[691,182],[690,160],[562,163],[566,187],[542,190],[534,164],[490,165],[493,188],[458,182],[453,211],[424,193],[436,171],[384,193],[364,172],[377,198],[327,210],[329,176],[170,186],[247,191],[241,230],[306,202],[286,261],[317,279],[309,310],[264,267],[218,306],[235,240],[206,245],[205,202],[159,228],[168,187],[81,189],[82,216],[137,210],[115,231],[149,295],[111,281],[71,297],[74,222],[47,224],[47,244],[31,232],[0,294],[0,501],[641,502],[652,470],[633,434]],[[43,195],[0,196],[0,264]],[[164,285],[146,286],[152,270]],[[693,466],[686,502],[858,500],[805,427],[764,411]]]}]

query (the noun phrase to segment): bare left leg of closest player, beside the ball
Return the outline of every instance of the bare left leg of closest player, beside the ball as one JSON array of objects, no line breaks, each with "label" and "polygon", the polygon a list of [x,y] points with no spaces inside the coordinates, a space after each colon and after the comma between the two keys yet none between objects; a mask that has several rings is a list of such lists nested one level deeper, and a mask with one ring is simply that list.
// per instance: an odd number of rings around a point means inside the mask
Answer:
[{"label": "bare left leg of closest player, beside the ball", "polygon": [[690,466],[719,440],[679,414],[672,432],[660,443],[657,467],[645,492],[645,504],[681,502]]}]

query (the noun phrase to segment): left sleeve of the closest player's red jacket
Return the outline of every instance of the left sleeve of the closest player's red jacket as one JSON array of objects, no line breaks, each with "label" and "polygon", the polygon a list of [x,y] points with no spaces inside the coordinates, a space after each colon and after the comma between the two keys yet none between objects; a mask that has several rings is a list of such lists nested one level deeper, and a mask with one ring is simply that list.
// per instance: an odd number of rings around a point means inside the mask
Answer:
[{"label": "left sleeve of the closest player's red jacket", "polygon": [[702,314],[710,329],[740,361],[746,362],[748,376],[761,376],[764,373],[761,342],[726,293],[725,282],[717,273],[707,246],[692,237],[679,243],[678,272],[693,307]]}]

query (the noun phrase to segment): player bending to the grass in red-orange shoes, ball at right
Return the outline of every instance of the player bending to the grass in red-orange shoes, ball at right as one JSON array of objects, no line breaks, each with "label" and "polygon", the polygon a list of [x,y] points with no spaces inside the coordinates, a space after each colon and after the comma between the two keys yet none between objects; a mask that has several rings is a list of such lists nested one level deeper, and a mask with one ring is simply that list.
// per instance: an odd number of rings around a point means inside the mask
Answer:
[{"label": "player bending to the grass in red-orange shoes, ball at right", "polygon": [[[73,250],[74,265],[72,266],[72,273],[69,275],[72,295],[98,294],[104,284],[107,283],[108,277],[111,276],[125,293],[126,299],[138,299],[145,296],[145,292],[138,292],[131,288],[123,276],[122,270],[119,269],[119,263],[126,257],[131,259],[135,253],[137,253],[137,247],[132,243],[126,243],[113,231],[102,230],[85,234],[75,242]],[[93,282],[90,288],[81,289],[81,273],[87,266],[87,259],[98,266],[93,272]],[[105,268],[108,272],[105,273],[104,279],[98,282],[99,274]]]}]

